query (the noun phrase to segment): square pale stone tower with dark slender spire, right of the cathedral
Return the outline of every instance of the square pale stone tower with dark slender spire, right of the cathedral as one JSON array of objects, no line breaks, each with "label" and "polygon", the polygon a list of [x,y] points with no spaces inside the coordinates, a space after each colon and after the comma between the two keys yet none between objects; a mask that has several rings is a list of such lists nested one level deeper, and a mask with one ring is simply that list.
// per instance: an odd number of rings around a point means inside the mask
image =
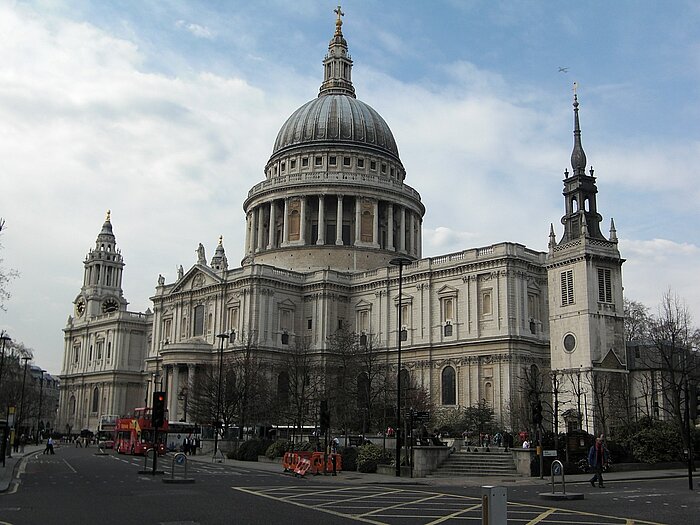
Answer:
[{"label": "square pale stone tower with dark slender spire, right of the cathedral", "polygon": [[573,107],[572,171],[564,172],[564,233],[557,242],[550,225],[546,259],[551,368],[562,391],[560,406],[568,407],[567,426],[598,432],[607,428],[608,401],[625,372],[624,260],[613,220],[608,238],[600,231],[598,188],[593,167],[586,173],[576,94]]}]

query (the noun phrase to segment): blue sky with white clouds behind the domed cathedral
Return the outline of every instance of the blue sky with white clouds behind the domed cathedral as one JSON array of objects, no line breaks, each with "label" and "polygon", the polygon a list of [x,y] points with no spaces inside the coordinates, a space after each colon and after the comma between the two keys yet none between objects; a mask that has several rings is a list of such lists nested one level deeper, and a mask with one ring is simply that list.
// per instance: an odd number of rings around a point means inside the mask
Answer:
[{"label": "blue sky with white clouds behind the domed cathedral", "polygon": [[[243,257],[243,200],[316,97],[336,2],[0,2],[0,329],[59,374],[83,260],[107,210],[131,311],[158,275]],[[561,238],[578,83],[598,210],[625,296],[671,290],[700,320],[700,4],[350,0],[357,96],[426,207],[423,255]],[[563,69],[563,71],[562,71]]]}]

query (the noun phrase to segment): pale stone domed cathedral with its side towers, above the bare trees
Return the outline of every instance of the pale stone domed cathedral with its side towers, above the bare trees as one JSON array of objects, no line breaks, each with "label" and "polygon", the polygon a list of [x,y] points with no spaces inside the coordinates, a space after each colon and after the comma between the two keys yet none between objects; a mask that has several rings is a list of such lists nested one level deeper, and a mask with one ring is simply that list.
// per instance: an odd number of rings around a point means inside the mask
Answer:
[{"label": "pale stone domed cathedral with its side towers, above the bare trees", "polygon": [[[130,412],[149,399],[154,376],[162,376],[159,384],[169,393],[170,419],[189,419],[187,393],[199,370],[215,365],[219,351],[240,348],[240,337],[217,338],[222,333],[255,334],[256,352],[273,363],[275,385],[274,363],[295,341],[322,355],[340,326],[371,338],[383,362],[395,367],[400,328],[403,368],[436,406],[486,402],[507,428],[527,425],[527,371],[547,372],[550,363],[557,370],[590,368],[601,358],[599,341],[616,351],[622,312],[616,239],[589,238],[579,228],[561,245],[550,238],[549,254],[506,242],[422,257],[425,208],[405,183],[388,125],[356,99],[341,25],[338,18],[319,96],[282,126],[265,180],[243,204],[241,267],[228,268],[222,239],[210,261],[200,245],[197,262],[174,282],[159,278],[152,313],[127,312],[123,262],[110,243],[108,218],[65,329],[60,416],[66,427],[94,429],[100,413]],[[110,275],[118,275],[111,288],[94,282],[100,254],[117,272]],[[399,270],[389,265],[396,256],[408,260],[401,297]],[[598,267],[612,272],[614,295],[601,305]],[[586,299],[562,310],[558,275],[568,268],[576,297]],[[105,301],[117,309],[103,311]],[[564,354],[569,333],[581,350]],[[112,354],[105,354],[110,343]]]}]

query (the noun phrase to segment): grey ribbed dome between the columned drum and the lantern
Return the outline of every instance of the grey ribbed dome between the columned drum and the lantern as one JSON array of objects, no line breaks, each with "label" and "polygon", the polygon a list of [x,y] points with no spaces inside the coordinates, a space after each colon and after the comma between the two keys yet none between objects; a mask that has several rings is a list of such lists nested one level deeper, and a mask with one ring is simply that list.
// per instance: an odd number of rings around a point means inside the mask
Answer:
[{"label": "grey ribbed dome between the columned drum and the lantern", "polygon": [[399,160],[386,121],[351,94],[321,93],[297,109],[277,134],[272,155],[314,144],[364,146]]}]

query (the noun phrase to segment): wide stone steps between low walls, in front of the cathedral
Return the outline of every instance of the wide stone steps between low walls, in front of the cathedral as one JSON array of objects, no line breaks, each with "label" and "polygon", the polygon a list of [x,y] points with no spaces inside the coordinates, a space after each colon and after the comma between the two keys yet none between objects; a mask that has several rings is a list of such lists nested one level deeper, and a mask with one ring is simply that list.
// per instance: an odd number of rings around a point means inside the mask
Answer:
[{"label": "wide stone steps between low walls, in front of the cathedral", "polygon": [[482,447],[478,447],[478,450],[453,452],[430,477],[518,476],[510,452],[496,447],[492,447],[490,452],[485,452]]}]

